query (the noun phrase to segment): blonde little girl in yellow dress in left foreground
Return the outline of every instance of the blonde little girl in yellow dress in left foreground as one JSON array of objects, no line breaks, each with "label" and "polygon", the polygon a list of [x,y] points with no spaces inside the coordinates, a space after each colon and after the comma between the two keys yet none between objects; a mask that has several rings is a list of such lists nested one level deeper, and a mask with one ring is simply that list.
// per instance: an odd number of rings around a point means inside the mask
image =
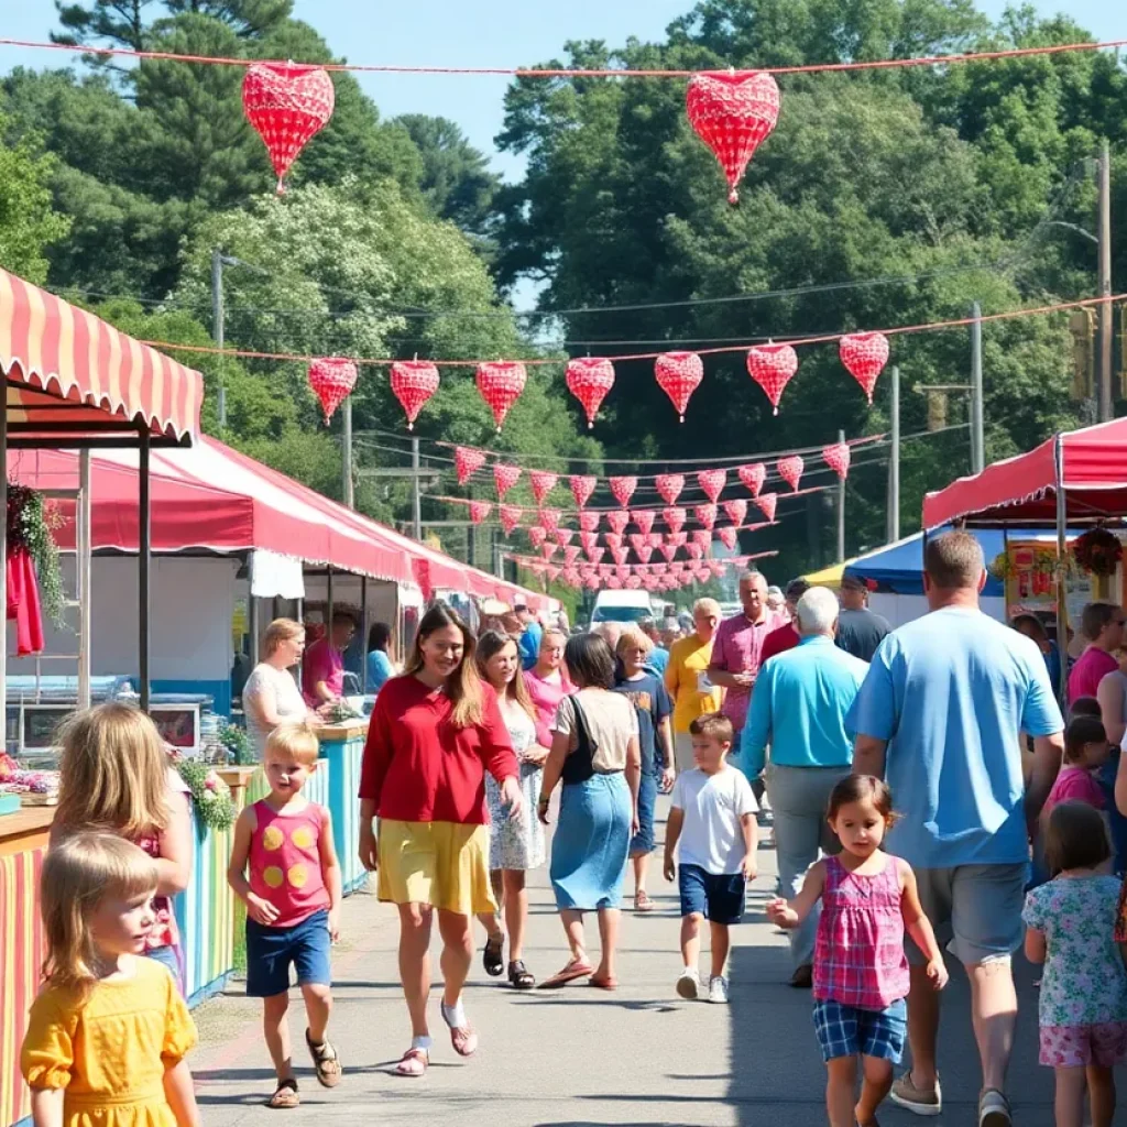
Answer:
[{"label": "blonde little girl in yellow dress in left foreground", "polygon": [[184,1059],[195,1026],[168,970],[137,957],[158,879],[106,833],[74,834],[43,862],[45,982],[20,1054],[35,1127],[198,1127]]}]

